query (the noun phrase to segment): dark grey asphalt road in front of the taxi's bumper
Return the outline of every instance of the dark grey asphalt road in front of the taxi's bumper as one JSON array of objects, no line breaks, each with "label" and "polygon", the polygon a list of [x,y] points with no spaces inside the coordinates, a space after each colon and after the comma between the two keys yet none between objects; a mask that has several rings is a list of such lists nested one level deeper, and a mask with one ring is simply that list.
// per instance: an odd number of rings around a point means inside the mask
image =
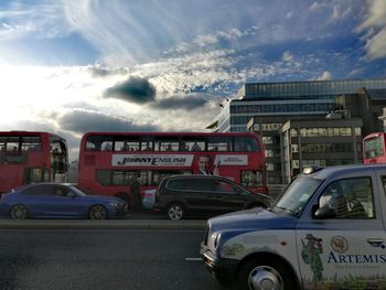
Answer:
[{"label": "dark grey asphalt road in front of the taxi's bumper", "polygon": [[0,289],[223,289],[195,260],[203,234],[1,229]]}]

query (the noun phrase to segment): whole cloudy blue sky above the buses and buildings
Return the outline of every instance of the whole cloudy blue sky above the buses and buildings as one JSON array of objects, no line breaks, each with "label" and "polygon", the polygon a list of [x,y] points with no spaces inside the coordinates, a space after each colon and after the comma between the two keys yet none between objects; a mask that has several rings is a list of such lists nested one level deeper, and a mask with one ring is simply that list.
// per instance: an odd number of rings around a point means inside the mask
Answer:
[{"label": "whole cloudy blue sky above the buses and buildings", "polygon": [[205,131],[245,83],[386,77],[386,0],[1,0],[0,130]]}]

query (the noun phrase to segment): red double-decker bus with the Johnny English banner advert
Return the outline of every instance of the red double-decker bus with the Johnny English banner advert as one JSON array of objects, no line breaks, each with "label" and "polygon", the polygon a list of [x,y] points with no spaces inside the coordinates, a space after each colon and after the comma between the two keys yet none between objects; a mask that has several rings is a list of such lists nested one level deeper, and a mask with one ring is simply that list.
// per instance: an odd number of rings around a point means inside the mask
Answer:
[{"label": "red double-decker bus with the Johnny English banner advert", "polygon": [[251,132],[88,132],[81,140],[78,185],[132,205],[130,180],[142,196],[174,174],[218,174],[267,193],[265,150]]}]

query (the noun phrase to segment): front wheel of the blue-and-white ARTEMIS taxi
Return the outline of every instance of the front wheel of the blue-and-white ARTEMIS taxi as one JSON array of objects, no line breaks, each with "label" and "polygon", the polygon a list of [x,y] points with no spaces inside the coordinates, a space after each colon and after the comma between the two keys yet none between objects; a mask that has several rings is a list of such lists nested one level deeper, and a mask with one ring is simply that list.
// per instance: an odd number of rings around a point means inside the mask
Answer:
[{"label": "front wheel of the blue-and-white ARTEMIS taxi", "polygon": [[280,261],[272,258],[259,258],[259,260],[249,260],[242,265],[238,271],[239,289],[275,289],[275,290],[294,290],[297,289],[293,273]]}]

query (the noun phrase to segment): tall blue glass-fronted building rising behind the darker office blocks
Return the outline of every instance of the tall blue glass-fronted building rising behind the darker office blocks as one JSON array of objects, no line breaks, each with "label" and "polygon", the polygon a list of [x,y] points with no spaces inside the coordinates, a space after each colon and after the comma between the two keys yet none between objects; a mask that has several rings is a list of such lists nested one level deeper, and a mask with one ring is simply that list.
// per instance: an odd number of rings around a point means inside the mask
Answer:
[{"label": "tall blue glass-fronted building rising behind the darker office blocks", "polygon": [[245,84],[237,98],[224,106],[213,123],[215,131],[246,131],[254,116],[325,115],[335,97],[360,88],[386,88],[384,79],[310,80]]}]

